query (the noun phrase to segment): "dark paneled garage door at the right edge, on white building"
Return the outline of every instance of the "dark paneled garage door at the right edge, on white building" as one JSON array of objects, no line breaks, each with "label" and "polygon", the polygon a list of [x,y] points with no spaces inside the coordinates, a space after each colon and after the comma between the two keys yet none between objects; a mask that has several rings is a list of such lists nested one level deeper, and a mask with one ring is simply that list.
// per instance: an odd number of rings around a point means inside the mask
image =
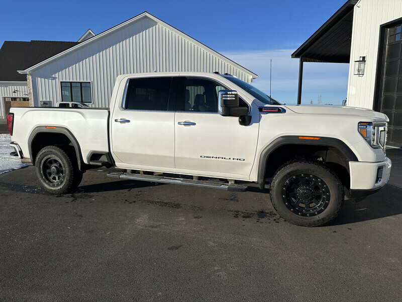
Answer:
[{"label": "dark paneled garage door at the right edge, on white building", "polygon": [[402,25],[388,29],[381,112],[389,118],[388,143],[402,146]]}]

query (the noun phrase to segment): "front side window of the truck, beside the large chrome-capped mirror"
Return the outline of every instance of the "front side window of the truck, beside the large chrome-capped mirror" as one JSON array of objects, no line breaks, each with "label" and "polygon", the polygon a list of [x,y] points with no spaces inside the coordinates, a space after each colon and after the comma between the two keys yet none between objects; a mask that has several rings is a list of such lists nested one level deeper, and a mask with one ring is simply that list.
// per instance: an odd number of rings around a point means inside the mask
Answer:
[{"label": "front side window of the truck, beside the large chrome-capped mirror", "polygon": [[225,89],[212,80],[186,78],[184,111],[218,112],[218,92]]}]

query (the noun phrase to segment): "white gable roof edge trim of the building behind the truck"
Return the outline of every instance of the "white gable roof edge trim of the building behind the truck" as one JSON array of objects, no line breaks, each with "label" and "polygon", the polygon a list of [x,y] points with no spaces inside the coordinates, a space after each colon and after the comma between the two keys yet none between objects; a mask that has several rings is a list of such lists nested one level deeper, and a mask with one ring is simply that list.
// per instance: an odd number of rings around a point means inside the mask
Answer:
[{"label": "white gable roof edge trim of the building behind the truck", "polygon": [[120,23],[120,24],[118,24],[118,25],[116,25],[116,26],[114,26],[114,27],[102,32],[102,33],[99,33],[99,34],[93,36],[92,38],[89,38],[89,39],[87,39],[85,41],[80,42],[78,45],[75,45],[75,46],[73,46],[73,47],[71,47],[71,48],[69,48],[69,49],[67,49],[67,50],[65,50],[65,51],[63,51],[61,53],[55,54],[54,56],[52,56],[52,57],[50,57],[50,58],[48,58],[46,60],[43,60],[42,62],[39,62],[39,63],[29,67],[29,68],[26,68],[25,70],[20,69],[19,72],[24,73],[24,74],[30,73],[31,71],[33,71],[35,69],[38,69],[38,68],[46,65],[47,63],[50,63],[50,62],[52,62],[52,61],[54,61],[54,60],[56,60],[56,59],[58,59],[60,57],[63,57],[63,56],[65,56],[65,55],[67,55],[67,54],[69,54],[69,53],[71,53],[73,51],[76,51],[76,50],[80,49],[81,47],[84,47],[85,45],[87,45],[89,43],[93,43],[93,42],[95,42],[95,41],[97,41],[99,39],[102,39],[102,38],[112,34],[115,31],[118,31],[119,29],[121,29],[121,28],[123,28],[123,27],[125,27],[125,26],[127,26],[129,24],[132,24],[134,22],[139,21],[142,18],[149,18],[149,19],[153,20],[154,22],[163,25],[164,27],[168,28],[172,32],[178,34],[179,36],[181,36],[181,37],[183,37],[183,38],[185,38],[187,40],[190,40],[191,42],[199,45],[199,47],[204,48],[207,51],[213,52],[217,57],[220,57],[222,60],[226,61],[227,63],[232,64],[232,65],[236,65],[236,66],[238,66],[238,69],[241,69],[241,70],[245,71],[246,73],[250,73],[252,75],[253,79],[258,78],[258,75],[255,74],[254,72],[252,72],[249,69],[239,65],[238,63],[236,63],[236,62],[232,61],[231,59],[225,57],[224,55],[222,55],[219,52],[213,50],[212,48],[206,46],[205,44],[195,40],[194,38],[191,38],[190,36],[188,36],[185,33],[179,31],[178,29],[174,28],[173,26],[163,22],[162,20],[156,18],[155,16],[149,14],[148,12],[144,12],[142,14],[139,14],[139,15],[127,20],[127,21],[124,21],[124,22],[122,22],[122,23]]}]

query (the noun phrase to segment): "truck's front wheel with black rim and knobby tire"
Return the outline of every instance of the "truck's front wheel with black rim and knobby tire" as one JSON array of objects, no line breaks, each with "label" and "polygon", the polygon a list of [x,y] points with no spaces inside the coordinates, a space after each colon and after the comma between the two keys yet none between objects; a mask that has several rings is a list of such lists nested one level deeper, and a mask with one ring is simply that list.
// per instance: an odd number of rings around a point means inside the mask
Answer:
[{"label": "truck's front wheel with black rim and knobby tire", "polygon": [[275,173],[271,202],[280,216],[303,226],[323,225],[339,213],[344,190],[338,176],[310,160],[293,160]]}]

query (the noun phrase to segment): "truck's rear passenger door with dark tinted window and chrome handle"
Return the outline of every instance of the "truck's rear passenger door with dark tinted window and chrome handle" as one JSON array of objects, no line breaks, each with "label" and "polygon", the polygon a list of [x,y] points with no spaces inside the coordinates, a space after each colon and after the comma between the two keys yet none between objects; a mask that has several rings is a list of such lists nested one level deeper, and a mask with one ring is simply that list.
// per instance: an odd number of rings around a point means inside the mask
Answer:
[{"label": "truck's rear passenger door with dark tinted window and chrome handle", "polygon": [[128,80],[124,100],[115,105],[111,117],[111,150],[117,166],[174,168],[172,79]]}]

